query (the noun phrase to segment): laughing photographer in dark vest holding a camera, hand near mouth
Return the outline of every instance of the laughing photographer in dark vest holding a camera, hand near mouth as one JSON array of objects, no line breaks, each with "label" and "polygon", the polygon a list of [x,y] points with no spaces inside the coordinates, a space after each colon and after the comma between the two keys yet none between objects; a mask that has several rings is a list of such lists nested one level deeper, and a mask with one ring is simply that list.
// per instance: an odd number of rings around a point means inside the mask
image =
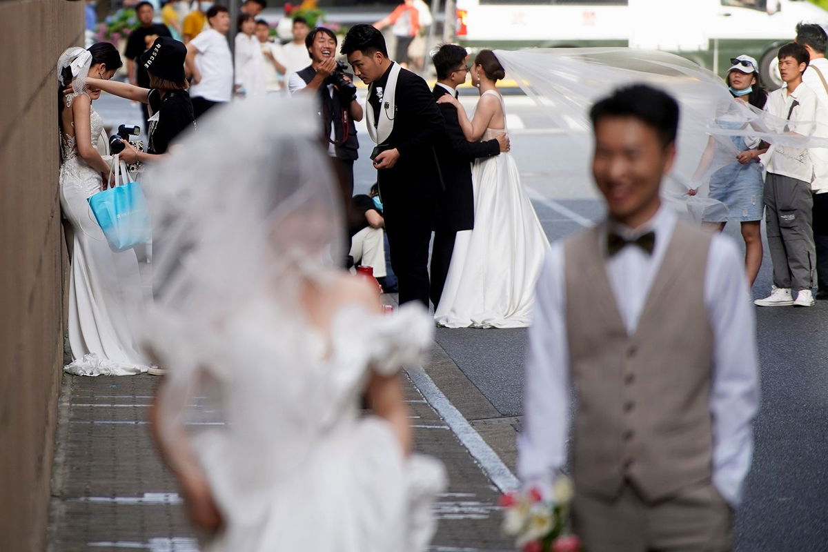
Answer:
[{"label": "laughing photographer in dark vest holding a camera, hand near mouth", "polygon": [[322,137],[339,176],[342,204],[348,209],[354,194],[354,161],[359,151],[354,122],[362,121],[363,108],[351,75],[345,73],[348,66],[335,60],[334,31],[316,27],[306,36],[305,46],[311,63],[290,75],[287,88],[291,95],[319,94]]}]

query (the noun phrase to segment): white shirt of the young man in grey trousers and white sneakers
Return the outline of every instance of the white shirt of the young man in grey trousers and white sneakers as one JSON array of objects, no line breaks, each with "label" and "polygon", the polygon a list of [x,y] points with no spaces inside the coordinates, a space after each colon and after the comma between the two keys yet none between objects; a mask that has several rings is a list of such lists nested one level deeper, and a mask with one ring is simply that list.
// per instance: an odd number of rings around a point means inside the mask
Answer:
[{"label": "white shirt of the young man in grey trousers and white sneakers", "polygon": [[[791,111],[794,100],[799,105]],[[782,120],[786,119],[787,113],[790,112],[791,118],[788,119],[787,128],[802,136],[811,136],[816,131],[818,106],[816,94],[807,86],[800,84],[791,94],[787,94],[786,86],[773,90],[768,94],[765,111]],[[782,131],[782,129],[777,130]],[[813,180],[814,166],[807,148],[771,146],[761,159],[769,173],[789,176],[809,184]]]}]

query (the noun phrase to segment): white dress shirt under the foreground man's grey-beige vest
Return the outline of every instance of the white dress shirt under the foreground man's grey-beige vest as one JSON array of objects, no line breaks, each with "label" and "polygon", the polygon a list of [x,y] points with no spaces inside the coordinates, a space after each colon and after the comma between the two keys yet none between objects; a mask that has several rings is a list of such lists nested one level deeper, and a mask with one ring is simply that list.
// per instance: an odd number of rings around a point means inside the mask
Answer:
[{"label": "white dress shirt under the foreground man's grey-beige vest", "polygon": [[[667,252],[677,214],[662,206],[634,232],[613,225],[623,238],[650,230],[652,255],[627,246],[606,261],[607,276],[629,333],[638,326],[652,282]],[[606,235],[609,223],[602,223]],[[604,243],[604,253],[606,244]],[[537,283],[529,329],[523,432],[518,438],[517,470],[523,482],[551,488],[566,466],[570,428],[570,363],[566,333],[564,248],[552,244]],[[741,500],[742,482],[753,455],[751,422],[759,406],[758,354],[744,262],[735,243],[716,234],[705,272],[705,306],[714,334],[710,415],[713,420],[713,482],[729,504]]]}]

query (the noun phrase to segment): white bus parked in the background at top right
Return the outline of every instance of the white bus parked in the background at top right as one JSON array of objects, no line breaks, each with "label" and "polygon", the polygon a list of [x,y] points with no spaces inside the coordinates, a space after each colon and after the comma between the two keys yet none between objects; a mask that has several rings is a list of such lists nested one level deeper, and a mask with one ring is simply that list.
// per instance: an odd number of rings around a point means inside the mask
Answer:
[{"label": "white bus parked in the background at top right", "polygon": [[457,40],[469,47],[630,46],[676,52],[716,72],[739,54],[781,84],[778,47],[797,22],[828,25],[806,0],[457,0]]}]

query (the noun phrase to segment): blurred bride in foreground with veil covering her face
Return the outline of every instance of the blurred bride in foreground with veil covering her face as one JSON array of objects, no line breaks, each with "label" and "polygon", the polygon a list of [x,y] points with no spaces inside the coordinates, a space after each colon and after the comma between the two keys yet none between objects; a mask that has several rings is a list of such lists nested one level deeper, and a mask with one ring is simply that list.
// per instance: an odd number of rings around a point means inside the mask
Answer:
[{"label": "blurred bride in foreground with veil covering her face", "polygon": [[156,438],[206,550],[426,550],[445,475],[411,452],[400,367],[433,322],[417,305],[382,314],[336,267],[344,223],[312,113],[233,103],[142,181],[142,337],[168,369]]}]

